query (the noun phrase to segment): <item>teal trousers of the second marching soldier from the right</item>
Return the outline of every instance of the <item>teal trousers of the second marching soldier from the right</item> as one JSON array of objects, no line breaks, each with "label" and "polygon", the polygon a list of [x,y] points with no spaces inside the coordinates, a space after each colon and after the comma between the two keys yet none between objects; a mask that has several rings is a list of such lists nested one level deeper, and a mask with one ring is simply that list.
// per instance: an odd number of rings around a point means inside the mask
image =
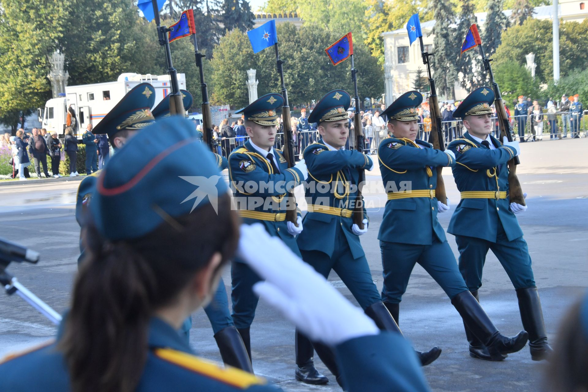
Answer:
[{"label": "teal trousers of the second marching soldier from the right", "polygon": [[447,241],[433,239],[430,245],[380,241],[384,287],[382,301],[400,303],[410,274],[419,263],[450,299],[467,291],[457,262]]}]

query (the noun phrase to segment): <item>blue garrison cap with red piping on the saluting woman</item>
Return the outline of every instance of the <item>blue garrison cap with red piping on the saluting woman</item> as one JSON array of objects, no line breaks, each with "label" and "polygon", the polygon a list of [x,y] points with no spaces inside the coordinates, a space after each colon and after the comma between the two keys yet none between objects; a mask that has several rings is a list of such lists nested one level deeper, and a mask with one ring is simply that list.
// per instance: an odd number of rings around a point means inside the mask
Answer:
[{"label": "blue garrison cap with red piping on the saluting woman", "polygon": [[134,239],[169,217],[206,204],[216,209],[227,192],[192,122],[172,116],[139,132],[112,156],[96,180],[90,212],[106,239]]}]

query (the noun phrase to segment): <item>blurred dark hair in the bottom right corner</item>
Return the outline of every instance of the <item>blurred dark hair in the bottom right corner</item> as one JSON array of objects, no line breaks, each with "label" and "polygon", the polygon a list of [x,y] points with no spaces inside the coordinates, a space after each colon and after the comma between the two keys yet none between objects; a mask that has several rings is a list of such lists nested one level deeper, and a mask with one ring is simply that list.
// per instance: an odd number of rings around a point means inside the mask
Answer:
[{"label": "blurred dark hair in the bottom right corner", "polygon": [[588,326],[580,320],[580,300],[564,317],[544,378],[546,391],[588,391]]}]

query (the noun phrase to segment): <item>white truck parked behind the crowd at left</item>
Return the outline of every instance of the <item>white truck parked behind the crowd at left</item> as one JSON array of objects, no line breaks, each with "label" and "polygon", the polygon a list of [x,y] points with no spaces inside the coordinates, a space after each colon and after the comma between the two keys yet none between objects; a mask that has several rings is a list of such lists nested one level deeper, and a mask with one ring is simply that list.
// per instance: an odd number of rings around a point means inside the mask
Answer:
[{"label": "white truck parked behind the crowd at left", "polygon": [[[45,108],[39,108],[39,122],[47,132],[64,134],[68,108],[76,113],[75,133],[81,138],[88,124],[96,126],[126,93],[139,83],[150,83],[155,88],[155,105],[171,93],[169,75],[139,75],[122,73],[116,82],[94,83],[90,85],[66,86],[65,96],[49,99]],[[180,89],[186,89],[186,76],[178,73]],[[155,107],[154,105],[154,107]]]}]

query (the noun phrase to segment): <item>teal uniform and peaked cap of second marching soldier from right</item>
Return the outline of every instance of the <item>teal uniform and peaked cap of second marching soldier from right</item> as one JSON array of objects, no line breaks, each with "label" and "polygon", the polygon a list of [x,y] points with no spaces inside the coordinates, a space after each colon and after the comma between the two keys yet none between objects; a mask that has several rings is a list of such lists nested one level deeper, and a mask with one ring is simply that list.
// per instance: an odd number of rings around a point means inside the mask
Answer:
[{"label": "teal uniform and peaked cap of second marching soldier from right", "polygon": [[[419,92],[409,91],[382,114],[399,121],[418,120],[415,108],[422,100]],[[382,300],[389,309],[397,307],[416,263],[450,299],[466,292],[455,256],[437,220],[435,197],[437,167],[453,166],[455,160],[422,140],[394,137],[380,142],[378,159],[388,199],[377,237],[384,275]],[[397,309],[391,313],[396,316]]]}]

